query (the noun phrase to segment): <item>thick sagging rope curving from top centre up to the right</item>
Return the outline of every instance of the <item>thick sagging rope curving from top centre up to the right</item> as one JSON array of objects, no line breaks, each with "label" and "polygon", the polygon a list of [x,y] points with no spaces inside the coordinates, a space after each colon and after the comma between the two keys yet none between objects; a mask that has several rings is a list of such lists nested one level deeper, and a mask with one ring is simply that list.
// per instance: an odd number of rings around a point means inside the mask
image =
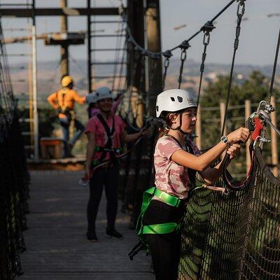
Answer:
[{"label": "thick sagging rope curving from top centre up to the right", "polygon": [[[209,22],[211,22],[211,24],[213,24],[214,20],[216,20],[220,15],[222,15],[225,10],[227,10],[231,5],[232,3],[235,3],[236,0],[231,0],[222,10],[220,10],[215,16],[214,18],[212,18],[211,20],[209,20]],[[237,0],[237,1],[246,1],[246,0]],[[124,6],[123,6],[123,1],[120,1],[120,6],[119,6],[119,13],[120,15],[124,18],[123,20],[125,20],[125,22],[127,22],[127,16],[125,15],[125,9],[124,9]],[[200,30],[196,31],[195,34],[193,34],[192,36],[190,36],[190,38],[188,38],[187,40],[184,40],[183,42],[185,41],[191,41],[193,38],[195,38],[198,34],[200,34],[200,32],[203,31],[203,27],[204,25],[200,28]],[[139,45],[137,43],[137,41],[135,41],[134,37],[132,36],[132,31],[129,27],[129,25],[127,25],[127,34],[129,36],[129,40],[137,47],[139,48],[139,50],[141,52],[145,52],[146,55],[148,56],[162,56],[162,55],[165,55],[166,52],[172,52],[173,50],[176,50],[177,48],[181,48],[181,45],[176,45],[174,48],[171,48],[169,50],[166,50],[165,52],[152,52],[151,50],[146,50],[145,48],[142,48],[141,45]]]}]

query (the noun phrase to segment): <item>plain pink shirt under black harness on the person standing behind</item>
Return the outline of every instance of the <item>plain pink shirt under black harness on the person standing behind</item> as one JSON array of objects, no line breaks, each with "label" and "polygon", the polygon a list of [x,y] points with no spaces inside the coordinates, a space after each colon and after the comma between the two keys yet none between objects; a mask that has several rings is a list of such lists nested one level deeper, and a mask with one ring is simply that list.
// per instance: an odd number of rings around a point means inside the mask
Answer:
[{"label": "plain pink shirt under black harness on the person standing behind", "polygon": [[[113,125],[113,118],[115,118],[115,132],[113,134],[113,148],[120,148],[121,147],[121,139],[120,136],[125,131],[125,123],[123,122],[120,116],[110,115],[109,118],[106,120],[107,125],[109,126],[110,130]],[[97,146],[104,147],[108,141],[108,137],[106,134],[106,130],[104,126],[100,122],[97,116],[94,116],[88,120],[87,125],[85,127],[85,133],[94,132],[95,134],[95,143]],[[92,160],[99,160],[101,157],[102,152],[94,152]],[[106,154],[106,158],[104,160],[109,160],[110,155],[109,153]]]}]

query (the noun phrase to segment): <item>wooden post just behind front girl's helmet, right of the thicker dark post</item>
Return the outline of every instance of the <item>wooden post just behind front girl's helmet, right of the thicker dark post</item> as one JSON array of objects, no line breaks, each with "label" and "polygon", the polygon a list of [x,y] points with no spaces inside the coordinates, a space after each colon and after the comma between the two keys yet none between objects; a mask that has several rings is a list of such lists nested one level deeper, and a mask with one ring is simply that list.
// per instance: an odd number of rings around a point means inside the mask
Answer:
[{"label": "wooden post just behind front girl's helmet, right of the thicker dark post", "polygon": [[[146,0],[147,48],[152,52],[161,51],[160,1]],[[148,113],[155,116],[155,100],[162,90],[162,60],[148,58]]]}]

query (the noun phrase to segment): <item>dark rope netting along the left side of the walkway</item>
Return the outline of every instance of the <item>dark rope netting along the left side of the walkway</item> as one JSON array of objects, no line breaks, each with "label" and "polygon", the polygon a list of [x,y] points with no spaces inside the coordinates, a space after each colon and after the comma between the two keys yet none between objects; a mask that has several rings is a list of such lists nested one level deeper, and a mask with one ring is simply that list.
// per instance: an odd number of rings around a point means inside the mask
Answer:
[{"label": "dark rope netting along the left side of the walkway", "polygon": [[0,279],[22,274],[29,175],[0,22]]}]

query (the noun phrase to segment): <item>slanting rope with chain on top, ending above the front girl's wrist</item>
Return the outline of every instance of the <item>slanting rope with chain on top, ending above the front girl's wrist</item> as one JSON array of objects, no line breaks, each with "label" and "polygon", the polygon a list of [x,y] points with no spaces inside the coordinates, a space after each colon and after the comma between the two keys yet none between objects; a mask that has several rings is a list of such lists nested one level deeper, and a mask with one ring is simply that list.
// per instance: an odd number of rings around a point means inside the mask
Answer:
[{"label": "slanting rope with chain on top, ending above the front girl's wrist", "polygon": [[226,103],[225,103],[225,115],[223,118],[223,128],[221,131],[221,136],[223,136],[223,133],[225,132],[225,123],[226,123],[227,116],[228,116],[228,104],[230,102],[230,93],[231,93],[231,89],[232,89],[233,69],[235,68],[235,56],[236,56],[236,52],[237,52],[238,45],[239,45],[241,20],[245,13],[245,1],[246,0],[237,0],[237,1],[239,1],[239,3],[237,6],[237,27],[236,27],[236,32],[235,32],[235,44],[234,44],[234,52],[233,52],[233,56],[232,56],[232,65],[231,65],[231,69],[230,69],[230,80],[228,83],[228,94],[227,94],[227,99],[226,99]]}]

